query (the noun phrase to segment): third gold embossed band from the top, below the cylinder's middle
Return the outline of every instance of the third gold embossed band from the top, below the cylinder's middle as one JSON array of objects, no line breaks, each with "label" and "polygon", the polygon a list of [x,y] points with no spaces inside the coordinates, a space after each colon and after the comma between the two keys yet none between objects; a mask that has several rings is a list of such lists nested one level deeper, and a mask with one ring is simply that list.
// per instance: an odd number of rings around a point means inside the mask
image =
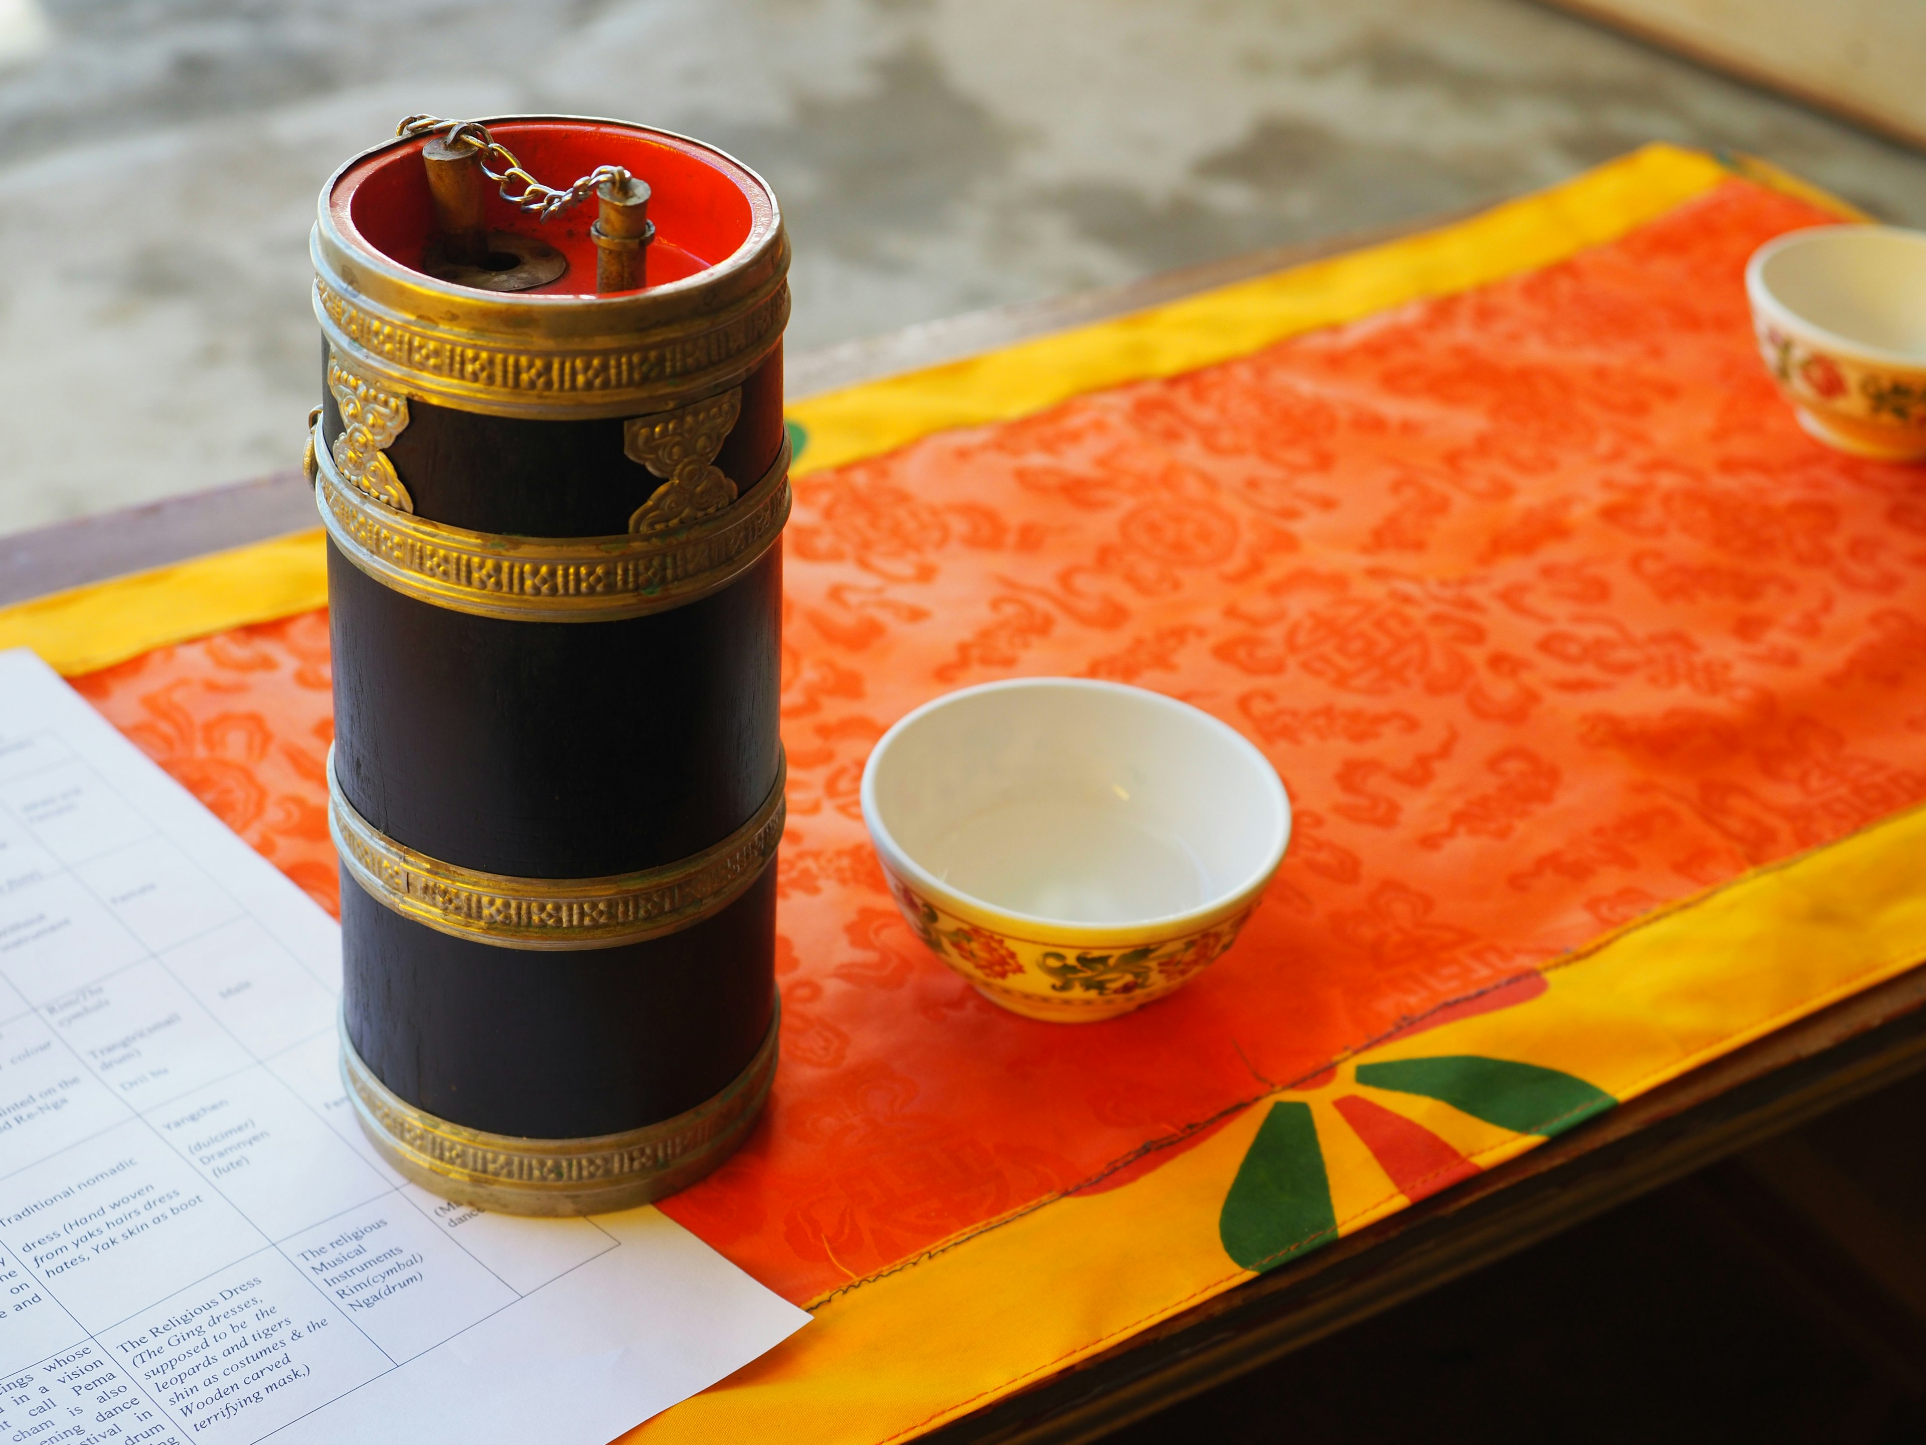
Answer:
[{"label": "third gold embossed band from the top, below the cylinder's middle", "polygon": [[788,761],[776,786],[722,842],[641,873],[609,879],[514,879],[428,857],[377,832],[343,796],[327,749],[327,830],[341,867],[404,919],[497,948],[614,948],[688,929],[718,913],[761,877],[782,842]]}]

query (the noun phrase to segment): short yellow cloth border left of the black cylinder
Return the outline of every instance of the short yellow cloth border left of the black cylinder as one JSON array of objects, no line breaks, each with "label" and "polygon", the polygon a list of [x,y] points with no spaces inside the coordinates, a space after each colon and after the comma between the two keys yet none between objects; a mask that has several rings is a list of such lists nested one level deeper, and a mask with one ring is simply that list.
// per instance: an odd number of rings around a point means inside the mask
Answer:
[{"label": "short yellow cloth border left of the black cylinder", "polygon": [[33,647],[62,676],[169,642],[327,605],[322,528],[208,553],[0,609],[0,649]]}]

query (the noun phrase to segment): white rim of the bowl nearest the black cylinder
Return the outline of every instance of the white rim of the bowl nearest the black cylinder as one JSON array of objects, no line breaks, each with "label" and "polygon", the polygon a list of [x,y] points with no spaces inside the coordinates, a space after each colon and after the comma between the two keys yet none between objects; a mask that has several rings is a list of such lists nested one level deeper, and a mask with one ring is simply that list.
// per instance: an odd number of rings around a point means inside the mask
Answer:
[{"label": "white rim of the bowl nearest the black cylinder", "polygon": [[[959,699],[976,697],[988,692],[1044,692],[1044,690],[1079,690],[1079,692],[1106,692],[1121,697],[1134,697],[1150,701],[1152,705],[1165,707],[1171,713],[1186,717],[1190,722],[1215,728],[1223,738],[1227,738],[1233,748],[1244,751],[1254,763],[1258,763],[1258,776],[1263,778],[1263,788],[1267,790],[1273,811],[1277,817],[1277,842],[1265,852],[1263,861],[1244,877],[1233,888],[1227,888],[1210,900],[1198,904],[1196,907],[1186,907],[1179,913],[1158,913],[1144,919],[1125,919],[1125,921],[1090,921],[1090,919],[1059,919],[1044,913],[1023,913],[1015,907],[1005,907],[994,904],[988,898],[978,898],[976,894],[963,892],[961,888],[944,882],[921,863],[917,863],[909,852],[896,840],[896,834],[882,821],[882,813],[876,807],[876,767],[882,755],[890,749],[890,744],[898,736],[915,726],[921,719],[936,713],[944,707],[951,707]],[[969,688],[955,688],[953,692],[938,694],[926,703],[903,713],[896,722],[884,730],[871,748],[869,759],[863,763],[863,825],[869,828],[871,842],[876,852],[882,854],[882,861],[896,873],[901,873],[905,880],[930,894],[932,902],[944,904],[950,911],[959,915],[975,915],[975,921],[996,929],[1009,929],[1009,925],[1030,927],[1046,931],[1048,938],[1023,938],[1023,942],[1088,942],[1088,944],[1117,944],[1117,942],[1148,942],[1152,936],[1158,938],[1177,938],[1184,933],[1196,929],[1206,929],[1231,913],[1244,907],[1256,894],[1271,882],[1271,877],[1285,861],[1285,852],[1290,846],[1292,832],[1292,811],[1290,811],[1290,792],[1285,788],[1285,780],[1277,775],[1277,767],[1263,749],[1258,748],[1250,738],[1238,732],[1235,726],[1225,722],[1213,713],[1206,713],[1194,703],[1186,703],[1169,694],[1156,692],[1152,688],[1136,688],[1127,682],[1106,682],[1102,678],[1065,678],[1065,676],[1030,676],[1030,678],[1000,678],[996,682],[976,682]]]}]

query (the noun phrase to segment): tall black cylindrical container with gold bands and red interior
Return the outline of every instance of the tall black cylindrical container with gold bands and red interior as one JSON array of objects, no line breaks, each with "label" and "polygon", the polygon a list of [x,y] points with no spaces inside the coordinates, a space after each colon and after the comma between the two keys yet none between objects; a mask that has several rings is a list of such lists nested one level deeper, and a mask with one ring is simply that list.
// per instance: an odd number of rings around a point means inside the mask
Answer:
[{"label": "tall black cylindrical container with gold bands and red interior", "polygon": [[593,198],[491,185],[495,260],[566,270],[483,291],[424,270],[424,139],[322,189],[343,1075],[404,1175],[574,1214],[713,1169],[774,1073],[788,241],[695,141],[487,129],[549,183],[626,168],[657,229],[597,295]]}]

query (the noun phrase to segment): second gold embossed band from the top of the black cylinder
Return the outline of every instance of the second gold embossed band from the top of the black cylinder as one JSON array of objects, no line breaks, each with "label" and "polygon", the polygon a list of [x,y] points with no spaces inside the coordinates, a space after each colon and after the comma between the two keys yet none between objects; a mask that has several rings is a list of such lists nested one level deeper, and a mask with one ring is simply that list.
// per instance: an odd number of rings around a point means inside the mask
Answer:
[{"label": "second gold embossed band from the top of the black cylinder", "polygon": [[[320,424],[316,424],[318,428]],[[404,597],[508,622],[618,622],[707,597],[790,520],[790,443],[736,503],[668,534],[505,538],[403,512],[349,482],[316,430],[314,495],[354,566]]]}]

